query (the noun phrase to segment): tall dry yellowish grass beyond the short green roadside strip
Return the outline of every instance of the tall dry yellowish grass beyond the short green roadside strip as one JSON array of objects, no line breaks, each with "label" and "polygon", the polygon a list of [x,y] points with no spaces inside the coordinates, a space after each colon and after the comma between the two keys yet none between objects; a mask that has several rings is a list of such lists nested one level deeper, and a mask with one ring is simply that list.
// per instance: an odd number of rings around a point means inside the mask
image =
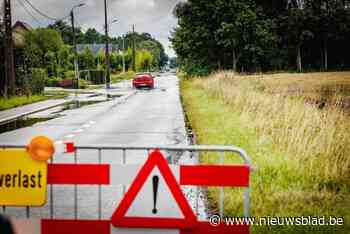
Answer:
[{"label": "tall dry yellowish grass beyond the short green roadside strip", "polygon": [[231,106],[239,113],[242,124],[253,128],[260,137],[271,139],[283,157],[296,165],[300,183],[318,189],[348,189],[349,115],[337,108],[319,109],[302,96],[271,94],[263,79],[218,72],[197,79],[194,85]]}]

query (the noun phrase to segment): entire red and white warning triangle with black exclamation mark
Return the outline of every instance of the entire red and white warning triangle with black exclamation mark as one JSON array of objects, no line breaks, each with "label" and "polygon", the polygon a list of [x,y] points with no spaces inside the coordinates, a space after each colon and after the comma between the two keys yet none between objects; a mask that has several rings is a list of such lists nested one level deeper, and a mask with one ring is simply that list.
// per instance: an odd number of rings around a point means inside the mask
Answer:
[{"label": "entire red and white warning triangle with black exclamation mark", "polygon": [[164,156],[152,152],[112,215],[115,227],[193,228],[197,218]]}]

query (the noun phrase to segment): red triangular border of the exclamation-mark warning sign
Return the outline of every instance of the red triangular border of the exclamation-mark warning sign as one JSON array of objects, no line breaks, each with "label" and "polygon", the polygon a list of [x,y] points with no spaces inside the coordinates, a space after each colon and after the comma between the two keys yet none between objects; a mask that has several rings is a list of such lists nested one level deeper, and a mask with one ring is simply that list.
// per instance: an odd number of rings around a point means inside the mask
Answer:
[{"label": "red triangular border of the exclamation-mark warning sign", "polygon": [[[128,216],[128,210],[135,202],[135,198],[141,189],[145,186],[147,179],[155,179],[158,184],[159,177],[153,176],[149,178],[153,171],[159,171],[159,175],[164,179],[165,185],[170,190],[170,194],[173,198],[169,198],[169,201],[174,201],[181,210],[182,218],[166,217],[166,216]],[[154,187],[154,181],[153,181]],[[154,188],[153,188],[154,190]],[[157,195],[155,195],[157,196]],[[158,205],[159,206],[159,205]],[[142,209],[140,207],[139,209]],[[161,209],[158,207],[157,209]],[[157,209],[153,209],[153,213],[157,213]],[[185,196],[183,195],[181,188],[176,181],[166,159],[158,150],[152,152],[146,163],[143,165],[135,180],[131,184],[129,190],[125,194],[124,198],[120,202],[118,208],[114,211],[111,223],[115,227],[134,227],[134,228],[193,228],[197,225],[197,217],[194,215],[190,205],[188,204]]]}]

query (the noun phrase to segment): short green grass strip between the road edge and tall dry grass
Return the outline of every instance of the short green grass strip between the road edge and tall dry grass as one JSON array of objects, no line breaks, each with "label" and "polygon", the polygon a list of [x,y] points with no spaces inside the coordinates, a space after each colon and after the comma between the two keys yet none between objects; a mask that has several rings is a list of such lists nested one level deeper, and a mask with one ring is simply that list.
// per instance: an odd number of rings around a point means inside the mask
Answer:
[{"label": "short green grass strip between the road edge and tall dry grass", "polygon": [[[235,145],[252,157],[257,167],[251,176],[252,216],[337,216],[345,221],[342,226],[253,226],[253,233],[349,233],[349,191],[319,190],[303,184],[301,178],[305,175],[298,170],[296,160],[285,157],[268,135],[259,135],[234,106],[211,96],[193,80],[182,81],[181,93],[198,144]],[[217,163],[218,157],[207,154],[202,160]],[[234,157],[226,157],[228,164],[237,162]],[[225,189],[225,216],[242,215],[242,195],[240,189]],[[217,189],[209,189],[208,198],[212,207],[218,207]]]}]

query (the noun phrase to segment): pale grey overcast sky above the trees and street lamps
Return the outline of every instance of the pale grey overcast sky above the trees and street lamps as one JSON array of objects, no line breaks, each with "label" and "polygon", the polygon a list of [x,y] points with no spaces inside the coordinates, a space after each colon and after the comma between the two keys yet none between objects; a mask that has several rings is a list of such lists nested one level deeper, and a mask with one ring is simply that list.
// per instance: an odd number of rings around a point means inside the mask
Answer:
[{"label": "pale grey overcast sky above the trees and street lamps", "polygon": [[[103,0],[27,0],[45,14],[61,18],[67,15],[72,6],[78,3],[86,3],[86,6],[75,10],[76,24],[87,28],[96,28],[103,32],[104,4]],[[111,36],[120,36],[131,30],[135,24],[138,32],[148,32],[158,39],[164,46],[169,56],[174,56],[174,51],[169,48],[168,37],[170,31],[177,25],[172,10],[176,3],[181,0],[107,0],[108,18],[118,19],[119,22],[110,27]],[[46,26],[52,20],[45,19],[35,12],[25,0],[13,0],[13,20],[21,20],[29,23],[32,27]],[[30,13],[28,14],[22,4],[25,4]],[[69,19],[68,19],[69,20]],[[39,22],[38,22],[39,21]],[[40,25],[41,24],[41,25]]]}]

